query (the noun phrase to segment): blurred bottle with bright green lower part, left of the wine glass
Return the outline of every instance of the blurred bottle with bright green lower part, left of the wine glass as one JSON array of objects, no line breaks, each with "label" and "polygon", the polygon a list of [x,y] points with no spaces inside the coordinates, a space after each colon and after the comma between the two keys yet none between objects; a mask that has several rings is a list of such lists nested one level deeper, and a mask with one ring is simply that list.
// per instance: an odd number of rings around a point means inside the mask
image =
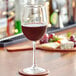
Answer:
[{"label": "blurred bottle with bright green lower part, left of the wine glass", "polygon": [[21,29],[21,20],[20,20],[20,0],[15,1],[15,34],[19,34],[22,32]]}]

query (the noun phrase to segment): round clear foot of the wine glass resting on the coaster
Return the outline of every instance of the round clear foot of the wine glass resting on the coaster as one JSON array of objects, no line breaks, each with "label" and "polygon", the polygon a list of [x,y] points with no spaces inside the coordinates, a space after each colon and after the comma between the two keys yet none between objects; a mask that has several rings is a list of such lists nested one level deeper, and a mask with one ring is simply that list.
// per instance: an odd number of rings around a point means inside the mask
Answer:
[{"label": "round clear foot of the wine glass resting on the coaster", "polygon": [[19,71],[21,75],[27,75],[27,76],[43,76],[43,75],[48,75],[48,71],[41,68],[41,67],[29,67],[29,68],[24,68],[23,70]]}]

